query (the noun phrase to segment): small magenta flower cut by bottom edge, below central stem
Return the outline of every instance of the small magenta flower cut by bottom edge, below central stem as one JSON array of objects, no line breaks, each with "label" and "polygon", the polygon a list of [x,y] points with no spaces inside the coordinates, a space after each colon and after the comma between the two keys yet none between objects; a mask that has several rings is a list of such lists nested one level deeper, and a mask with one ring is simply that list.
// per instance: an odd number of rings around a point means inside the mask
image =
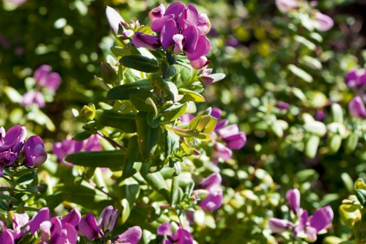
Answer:
[{"label": "small magenta flower cut by bottom edge, below central stem", "polygon": [[169,239],[164,239],[163,244],[193,244],[193,236],[191,232],[184,228],[179,228],[174,234],[171,230],[171,224],[169,222],[162,223],[158,227],[158,235],[169,236]]}]

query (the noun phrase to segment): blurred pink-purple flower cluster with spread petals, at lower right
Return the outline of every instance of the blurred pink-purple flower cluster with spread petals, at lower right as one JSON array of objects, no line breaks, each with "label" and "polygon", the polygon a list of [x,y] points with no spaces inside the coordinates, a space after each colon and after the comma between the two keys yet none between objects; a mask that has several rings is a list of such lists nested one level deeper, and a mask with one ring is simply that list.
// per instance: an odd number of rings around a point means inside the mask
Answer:
[{"label": "blurred pink-purple flower cluster with spread petals, at lower right", "polygon": [[325,229],[333,221],[334,214],[330,206],[319,208],[309,217],[308,211],[300,208],[300,191],[297,189],[288,190],[286,199],[288,200],[288,206],[294,213],[294,219],[297,219],[297,223],[286,219],[272,218],[269,225],[273,234],[292,230],[294,238],[301,237],[314,242],[317,234],[325,233]]}]

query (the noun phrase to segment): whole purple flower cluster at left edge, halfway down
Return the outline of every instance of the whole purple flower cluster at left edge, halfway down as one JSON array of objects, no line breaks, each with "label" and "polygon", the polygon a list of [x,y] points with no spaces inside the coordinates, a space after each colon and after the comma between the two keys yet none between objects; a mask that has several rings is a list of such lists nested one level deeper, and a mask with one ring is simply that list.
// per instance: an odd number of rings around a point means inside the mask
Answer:
[{"label": "whole purple flower cluster at left edge, halfway down", "polygon": [[[47,153],[43,140],[38,135],[32,135],[25,141],[27,129],[15,125],[8,131],[0,127],[0,177],[3,177],[3,167],[14,165],[34,167],[43,164]],[[23,159],[23,162],[21,162]]]}]

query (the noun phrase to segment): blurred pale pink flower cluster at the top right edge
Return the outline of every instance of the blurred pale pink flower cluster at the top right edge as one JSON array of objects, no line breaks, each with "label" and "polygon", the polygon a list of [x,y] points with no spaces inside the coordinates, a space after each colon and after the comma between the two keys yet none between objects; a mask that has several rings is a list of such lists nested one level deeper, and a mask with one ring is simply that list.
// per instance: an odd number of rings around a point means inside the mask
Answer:
[{"label": "blurred pale pink flower cluster at the top right edge", "polygon": [[[317,1],[311,1],[310,5],[308,5],[306,1],[301,0],[276,0],[276,6],[282,13],[298,11],[301,6],[308,6],[310,8],[310,16],[314,20],[314,27],[320,32],[326,32],[333,27],[334,21],[330,16],[322,14],[319,10],[312,8],[317,4]],[[308,11],[308,9],[305,11]]]}]

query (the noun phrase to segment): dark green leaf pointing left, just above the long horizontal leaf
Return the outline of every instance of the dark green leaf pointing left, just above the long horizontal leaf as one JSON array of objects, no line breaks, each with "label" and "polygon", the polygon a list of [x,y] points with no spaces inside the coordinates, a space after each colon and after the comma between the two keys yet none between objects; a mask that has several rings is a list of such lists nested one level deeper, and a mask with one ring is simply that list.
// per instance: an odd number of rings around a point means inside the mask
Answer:
[{"label": "dark green leaf pointing left, just above the long horizontal leaf", "polygon": [[96,122],[113,128],[120,129],[127,133],[135,133],[136,115],[134,113],[118,113],[112,110],[96,110]]}]

